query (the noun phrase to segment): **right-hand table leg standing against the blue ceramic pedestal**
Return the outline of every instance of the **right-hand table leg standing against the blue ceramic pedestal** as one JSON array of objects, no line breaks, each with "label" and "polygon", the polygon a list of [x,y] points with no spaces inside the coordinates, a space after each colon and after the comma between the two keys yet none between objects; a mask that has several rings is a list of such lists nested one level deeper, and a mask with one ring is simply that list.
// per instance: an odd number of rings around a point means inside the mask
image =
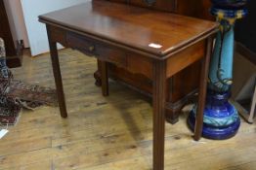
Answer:
[{"label": "right-hand table leg standing against the blue ceramic pedestal", "polygon": [[213,43],[213,38],[212,37],[207,38],[206,51],[205,51],[206,55],[203,58],[202,64],[201,64],[199,97],[198,97],[197,114],[195,119],[194,136],[193,136],[195,141],[198,141],[200,139],[201,133],[202,133],[203,111],[205,106],[209,63],[210,63],[212,45],[213,45],[212,43]]}]

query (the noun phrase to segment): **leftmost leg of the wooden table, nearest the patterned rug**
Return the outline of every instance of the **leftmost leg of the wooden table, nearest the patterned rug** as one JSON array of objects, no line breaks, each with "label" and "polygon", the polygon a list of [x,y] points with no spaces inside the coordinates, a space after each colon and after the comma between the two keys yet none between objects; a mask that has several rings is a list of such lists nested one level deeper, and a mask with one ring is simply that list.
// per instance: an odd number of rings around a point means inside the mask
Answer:
[{"label": "leftmost leg of the wooden table, nearest the patterned rug", "polygon": [[48,33],[49,47],[50,47],[52,66],[53,66],[53,72],[54,72],[54,78],[55,78],[55,85],[56,85],[56,89],[57,89],[58,102],[59,102],[59,106],[60,106],[61,116],[63,118],[66,118],[67,114],[66,114],[66,107],[65,107],[65,102],[64,102],[64,87],[63,87],[63,80],[62,80],[62,74],[61,74],[60,63],[59,63],[57,43],[52,41],[51,30],[49,27],[47,27],[47,33]]}]

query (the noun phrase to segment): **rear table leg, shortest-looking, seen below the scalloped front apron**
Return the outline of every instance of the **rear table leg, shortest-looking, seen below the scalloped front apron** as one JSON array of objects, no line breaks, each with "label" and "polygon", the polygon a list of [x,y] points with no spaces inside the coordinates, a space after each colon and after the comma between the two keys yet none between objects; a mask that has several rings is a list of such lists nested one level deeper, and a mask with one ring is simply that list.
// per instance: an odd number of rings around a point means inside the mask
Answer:
[{"label": "rear table leg, shortest-looking, seen below the scalloped front apron", "polygon": [[101,61],[101,77],[102,77],[102,91],[104,96],[108,96],[108,75],[107,75],[107,62]]}]

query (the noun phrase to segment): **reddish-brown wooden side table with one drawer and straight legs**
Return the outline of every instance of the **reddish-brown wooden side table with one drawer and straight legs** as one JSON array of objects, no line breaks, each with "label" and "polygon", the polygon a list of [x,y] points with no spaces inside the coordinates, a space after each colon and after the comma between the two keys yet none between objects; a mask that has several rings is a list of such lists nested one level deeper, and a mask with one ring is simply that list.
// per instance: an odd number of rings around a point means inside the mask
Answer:
[{"label": "reddish-brown wooden side table with one drawer and straight legs", "polygon": [[164,169],[166,80],[201,59],[194,132],[194,139],[199,140],[212,39],[217,23],[100,0],[43,15],[39,20],[47,27],[63,118],[67,114],[57,43],[102,61],[104,95],[108,95],[107,62],[143,74],[153,81],[154,170]]}]

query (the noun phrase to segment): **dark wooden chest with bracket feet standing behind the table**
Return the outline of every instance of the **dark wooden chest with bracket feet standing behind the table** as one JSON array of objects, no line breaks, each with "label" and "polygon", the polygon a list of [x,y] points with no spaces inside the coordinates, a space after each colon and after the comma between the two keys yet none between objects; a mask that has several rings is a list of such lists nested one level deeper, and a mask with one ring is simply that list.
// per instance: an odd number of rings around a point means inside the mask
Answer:
[{"label": "dark wooden chest with bracket feet standing behind the table", "polygon": [[[150,10],[164,11],[184,16],[214,19],[209,14],[211,2],[209,0],[154,0],[152,4],[146,0],[109,0],[129,6],[140,6]],[[188,53],[190,55],[190,53]],[[94,74],[96,85],[101,85],[101,61],[98,60],[98,71]],[[166,93],[166,119],[175,123],[178,121],[182,107],[190,96],[196,92],[199,82],[200,62],[175,74],[167,81]],[[111,79],[124,83],[132,88],[145,93],[152,94],[152,81],[144,75],[138,75],[115,64],[108,64],[108,74]],[[186,80],[186,82],[185,82]]]}]

